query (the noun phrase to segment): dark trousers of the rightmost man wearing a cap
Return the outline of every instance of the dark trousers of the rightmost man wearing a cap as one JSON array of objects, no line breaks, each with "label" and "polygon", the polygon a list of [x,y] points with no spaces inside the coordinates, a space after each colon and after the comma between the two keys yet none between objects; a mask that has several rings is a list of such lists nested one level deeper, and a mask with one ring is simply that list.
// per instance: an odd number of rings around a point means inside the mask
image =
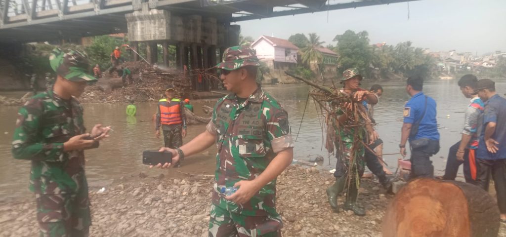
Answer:
[{"label": "dark trousers of the rightmost man wearing a cap", "polygon": [[501,214],[506,214],[506,159],[484,160],[478,158],[476,164],[477,185],[488,191],[490,174],[492,174],[497,194],[497,206],[499,206]]}]

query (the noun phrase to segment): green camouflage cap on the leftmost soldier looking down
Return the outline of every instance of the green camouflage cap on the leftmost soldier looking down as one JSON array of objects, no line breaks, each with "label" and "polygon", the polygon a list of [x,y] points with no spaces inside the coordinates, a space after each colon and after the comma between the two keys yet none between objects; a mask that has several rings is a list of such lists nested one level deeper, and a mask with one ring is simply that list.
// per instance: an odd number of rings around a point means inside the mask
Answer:
[{"label": "green camouflage cap on the leftmost soldier looking down", "polygon": [[96,81],[97,78],[88,74],[90,63],[86,54],[71,50],[63,53],[60,48],[55,48],[49,56],[49,64],[57,75],[69,81]]}]

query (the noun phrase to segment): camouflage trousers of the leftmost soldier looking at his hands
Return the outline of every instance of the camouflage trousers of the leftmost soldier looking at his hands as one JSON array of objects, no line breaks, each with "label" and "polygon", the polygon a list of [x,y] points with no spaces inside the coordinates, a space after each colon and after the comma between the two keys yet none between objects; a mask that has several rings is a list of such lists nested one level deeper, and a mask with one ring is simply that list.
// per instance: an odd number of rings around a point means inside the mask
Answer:
[{"label": "camouflage trousers of the leftmost soldier looking at his hands", "polygon": [[91,225],[88,191],[81,194],[36,194],[41,237],[85,237]]}]

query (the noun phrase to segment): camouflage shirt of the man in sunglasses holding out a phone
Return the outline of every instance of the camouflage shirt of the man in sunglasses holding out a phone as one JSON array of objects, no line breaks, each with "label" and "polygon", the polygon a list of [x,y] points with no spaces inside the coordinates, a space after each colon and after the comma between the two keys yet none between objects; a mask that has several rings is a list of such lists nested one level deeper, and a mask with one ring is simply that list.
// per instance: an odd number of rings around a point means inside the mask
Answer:
[{"label": "camouflage shirt of the man in sunglasses holding out a phone", "polygon": [[261,87],[241,104],[235,94],[229,94],[217,102],[207,131],[216,135],[218,147],[213,203],[247,216],[276,214],[275,179],[245,205],[225,200],[220,191],[240,180],[255,179],[276,153],[293,147],[286,111]]}]

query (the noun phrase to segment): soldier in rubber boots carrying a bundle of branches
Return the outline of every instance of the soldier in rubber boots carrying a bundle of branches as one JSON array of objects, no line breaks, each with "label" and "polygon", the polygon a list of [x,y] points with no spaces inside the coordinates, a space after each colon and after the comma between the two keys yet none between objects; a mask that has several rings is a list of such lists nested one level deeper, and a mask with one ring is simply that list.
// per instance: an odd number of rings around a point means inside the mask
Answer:
[{"label": "soldier in rubber boots carrying a bundle of branches", "polygon": [[[340,90],[343,94],[351,95],[352,98],[359,102],[358,107],[365,112],[362,101],[366,100],[371,104],[377,103],[374,94],[368,93],[367,90],[359,87],[362,76],[358,74],[357,69],[351,68],[343,72],[343,80],[341,83],[344,88]],[[365,114],[365,113],[364,113]],[[364,146],[361,143],[367,135],[370,141],[377,139],[377,133],[374,132],[368,117],[360,118],[359,124],[365,126],[346,127],[354,125],[354,116],[350,108],[339,108],[337,111],[339,121],[332,121],[332,126],[336,131],[336,136],[340,137],[336,144],[336,158],[334,177],[335,183],[327,188],[328,202],[334,211],[338,211],[336,197],[343,191],[346,192],[346,202],[344,210],[352,210],[356,215],[365,215],[365,210],[358,206],[358,189],[360,177],[364,173]],[[359,116],[360,117],[360,116]]]}]

